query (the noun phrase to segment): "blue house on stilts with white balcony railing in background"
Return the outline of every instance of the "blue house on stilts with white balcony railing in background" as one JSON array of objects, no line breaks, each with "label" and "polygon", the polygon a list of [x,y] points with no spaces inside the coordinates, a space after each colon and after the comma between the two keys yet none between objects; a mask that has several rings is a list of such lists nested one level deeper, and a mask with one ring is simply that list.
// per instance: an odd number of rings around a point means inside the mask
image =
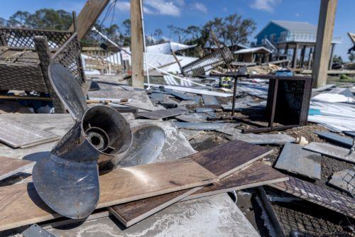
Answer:
[{"label": "blue house on stilts with white balcony railing in background", "polygon": [[[277,49],[276,60],[281,58],[292,59],[291,67],[310,69],[312,53],[317,40],[317,26],[307,22],[270,21],[256,36],[256,46],[271,45]],[[333,38],[332,54],[335,44],[342,43],[342,38]],[[292,50],[290,54],[290,50]],[[298,51],[301,51],[298,55]],[[282,53],[283,51],[283,53]],[[307,55],[306,55],[307,51]],[[305,57],[307,56],[307,57]],[[306,61],[307,59],[307,65]],[[329,67],[332,65],[332,55]]]}]

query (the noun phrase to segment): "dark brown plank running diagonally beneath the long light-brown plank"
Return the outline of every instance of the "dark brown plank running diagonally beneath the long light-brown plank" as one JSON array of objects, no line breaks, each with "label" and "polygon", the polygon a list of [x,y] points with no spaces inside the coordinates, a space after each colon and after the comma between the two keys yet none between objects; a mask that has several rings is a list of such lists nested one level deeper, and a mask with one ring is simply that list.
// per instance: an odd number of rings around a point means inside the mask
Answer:
[{"label": "dark brown plank running diagonally beneath the long light-brown plank", "polygon": [[[244,143],[241,140],[234,140],[209,150],[189,155],[188,158],[191,158],[214,175],[222,178],[272,152],[273,150],[270,148]],[[184,197],[196,192],[197,189],[202,189],[202,187],[111,206],[109,207],[109,211],[111,211],[122,224],[129,227],[165,207],[180,201]]]}]

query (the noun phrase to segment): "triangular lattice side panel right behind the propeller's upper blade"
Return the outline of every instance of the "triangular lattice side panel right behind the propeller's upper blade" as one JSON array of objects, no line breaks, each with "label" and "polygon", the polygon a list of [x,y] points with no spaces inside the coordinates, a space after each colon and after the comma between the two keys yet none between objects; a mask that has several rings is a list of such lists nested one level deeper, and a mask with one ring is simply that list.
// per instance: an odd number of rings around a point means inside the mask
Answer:
[{"label": "triangular lattice side panel right behind the propeller's upper blade", "polygon": [[84,71],[80,56],[80,44],[77,35],[73,35],[70,40],[60,48],[60,51],[53,56],[54,62],[59,62],[66,67],[75,79],[82,85],[84,83]]}]

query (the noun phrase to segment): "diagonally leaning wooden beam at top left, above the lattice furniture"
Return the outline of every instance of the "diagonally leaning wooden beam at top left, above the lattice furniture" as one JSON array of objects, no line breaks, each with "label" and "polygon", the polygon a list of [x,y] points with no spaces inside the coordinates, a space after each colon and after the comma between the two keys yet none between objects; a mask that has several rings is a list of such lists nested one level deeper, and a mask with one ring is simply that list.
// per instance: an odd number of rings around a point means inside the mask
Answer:
[{"label": "diagonally leaning wooden beam at top left, above the lattice furniture", "polygon": [[[104,11],[110,0],[88,0],[87,3],[80,11],[79,16],[77,16],[77,37],[79,40],[84,38],[84,36],[90,31],[97,18]],[[72,24],[69,30],[74,31],[75,27]]]}]

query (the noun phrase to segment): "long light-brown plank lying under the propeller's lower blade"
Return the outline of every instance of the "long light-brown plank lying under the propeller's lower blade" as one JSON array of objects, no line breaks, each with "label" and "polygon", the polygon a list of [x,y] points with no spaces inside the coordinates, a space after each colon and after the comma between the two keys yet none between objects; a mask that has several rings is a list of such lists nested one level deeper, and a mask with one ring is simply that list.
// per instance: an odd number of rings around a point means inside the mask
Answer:
[{"label": "long light-brown plank lying under the propeller's lower blade", "polygon": [[[97,209],[217,181],[190,158],[119,168],[99,177]],[[40,199],[32,182],[0,187],[0,200],[0,231],[60,216]]]}]

